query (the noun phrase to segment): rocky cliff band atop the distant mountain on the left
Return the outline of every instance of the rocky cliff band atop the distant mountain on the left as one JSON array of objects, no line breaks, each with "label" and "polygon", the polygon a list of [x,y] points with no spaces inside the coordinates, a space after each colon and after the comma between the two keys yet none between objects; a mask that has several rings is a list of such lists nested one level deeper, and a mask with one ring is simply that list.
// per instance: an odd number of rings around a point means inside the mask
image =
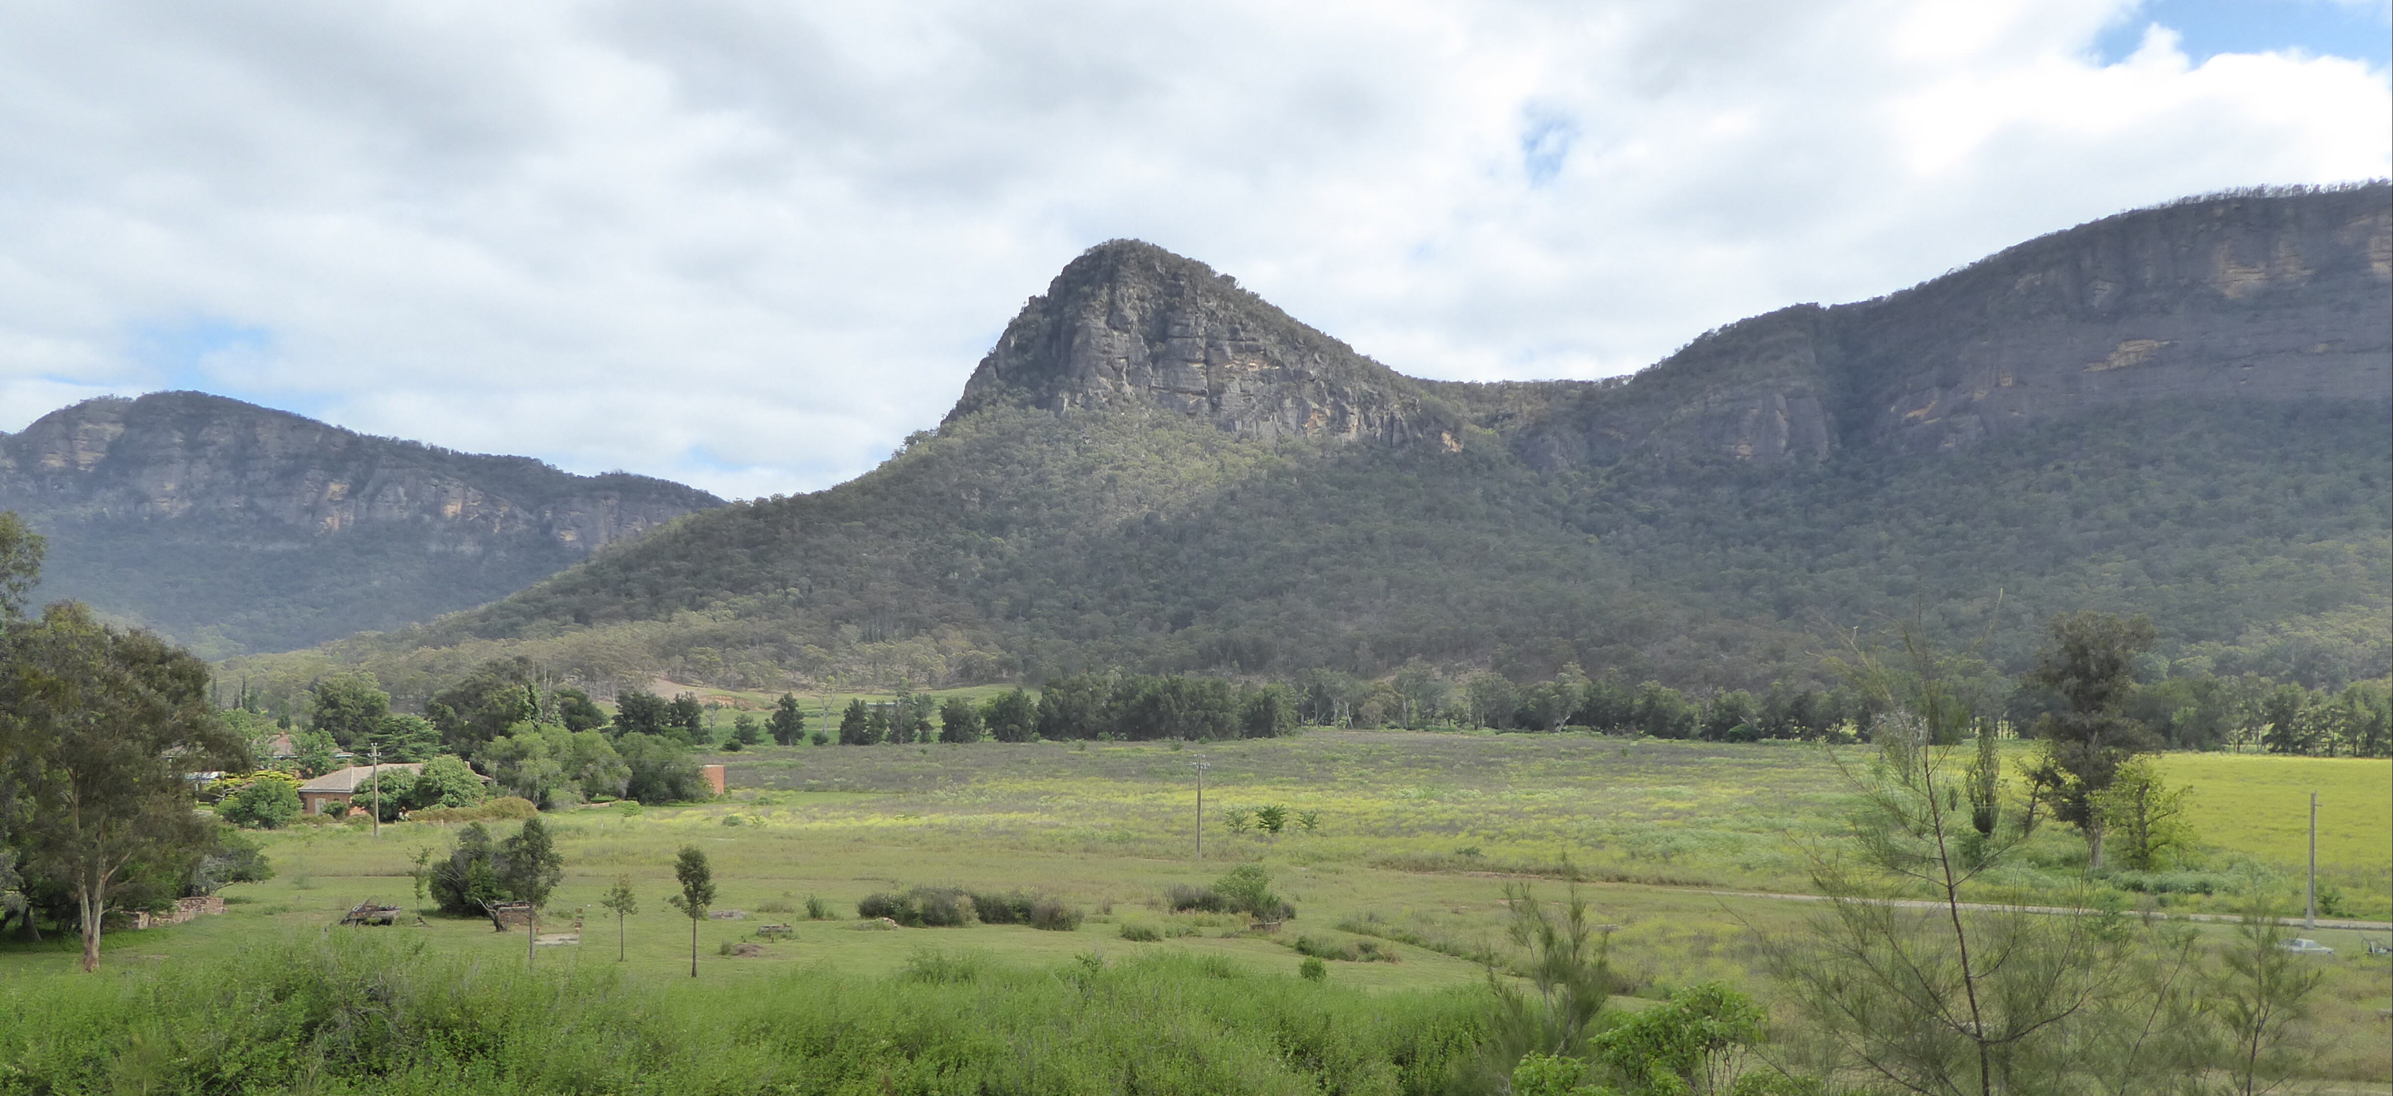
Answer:
[{"label": "rocky cliff band atop the distant mountain on the left", "polygon": [[404,526],[586,555],[716,505],[660,479],[572,476],[201,392],[86,400],[0,438],[0,507],[79,519],[213,517],[318,536]]}]

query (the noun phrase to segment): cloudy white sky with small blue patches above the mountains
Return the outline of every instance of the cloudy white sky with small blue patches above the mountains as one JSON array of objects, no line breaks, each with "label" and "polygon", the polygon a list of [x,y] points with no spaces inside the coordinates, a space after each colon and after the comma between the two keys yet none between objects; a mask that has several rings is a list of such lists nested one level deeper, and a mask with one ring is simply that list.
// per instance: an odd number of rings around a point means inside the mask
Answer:
[{"label": "cloudy white sky with small blue patches above the mountains", "polygon": [[2187,194],[2393,175],[2393,0],[12,0],[0,428],[196,388],[725,498],[1137,237],[1596,378]]}]

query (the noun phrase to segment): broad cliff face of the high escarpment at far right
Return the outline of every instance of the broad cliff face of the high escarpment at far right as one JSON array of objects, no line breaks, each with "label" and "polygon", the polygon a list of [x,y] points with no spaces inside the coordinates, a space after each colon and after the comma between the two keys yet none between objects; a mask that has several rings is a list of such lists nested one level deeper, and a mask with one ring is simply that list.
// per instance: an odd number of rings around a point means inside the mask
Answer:
[{"label": "broad cliff face of the high escarpment at far right", "polygon": [[2393,397],[2393,189],[2123,213],[1833,309],[1855,440],[1969,445],[2161,397]]}]

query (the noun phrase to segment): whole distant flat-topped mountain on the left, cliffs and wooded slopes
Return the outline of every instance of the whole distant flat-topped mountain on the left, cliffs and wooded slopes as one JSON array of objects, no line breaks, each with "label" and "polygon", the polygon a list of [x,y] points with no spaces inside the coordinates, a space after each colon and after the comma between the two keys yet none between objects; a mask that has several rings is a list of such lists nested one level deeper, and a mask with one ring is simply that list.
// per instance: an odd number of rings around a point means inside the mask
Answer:
[{"label": "whole distant flat-topped mountain on the left, cliffs and wooded slopes", "polygon": [[213,658],[433,620],[720,505],[203,392],[84,400],[0,436],[0,507],[50,538],[36,596]]}]

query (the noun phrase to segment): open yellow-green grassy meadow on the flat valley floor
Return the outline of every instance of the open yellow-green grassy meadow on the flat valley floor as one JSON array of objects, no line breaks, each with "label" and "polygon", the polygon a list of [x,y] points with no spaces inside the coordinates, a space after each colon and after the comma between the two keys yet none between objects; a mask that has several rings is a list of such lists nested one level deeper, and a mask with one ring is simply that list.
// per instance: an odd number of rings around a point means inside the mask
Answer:
[{"label": "open yellow-green grassy meadow on the flat valley floor", "polygon": [[[1386,1007],[1438,1012],[1484,993],[1481,960],[1512,960],[1503,883],[1527,876],[1558,897],[1565,883],[1555,876],[1567,859],[1601,919],[1620,926],[1610,948],[1637,998],[1704,979],[1768,998],[1754,931],[1797,931],[1819,907],[1764,893],[1807,890],[1804,857],[1833,850],[1845,806],[1840,759],[1862,763],[1864,754],[1469,732],[1307,732],[1177,749],[1118,742],[747,749],[711,759],[730,766],[732,792],[718,802],[593,804],[550,816],[567,873],[541,931],[570,933],[577,914],[581,926],[579,943],[543,945],[531,962],[572,986],[613,979],[610,986],[653,988],[675,1010],[720,1007],[725,1017],[747,1015],[739,1010],[759,1007],[756,1000],[804,998],[804,986],[866,993],[936,984],[938,972],[957,964],[1005,972],[984,979],[988,993],[995,993],[988,986],[1048,993],[1039,986],[1089,964],[1139,972],[1175,962],[1264,979],[1256,986],[1278,986],[1273,993],[1386,998]],[[1201,864],[1192,835],[1199,761],[1211,766]],[[2307,792],[2316,785],[2326,802],[2321,876],[2352,917],[2386,919],[2393,909],[2393,763],[2170,756],[2168,766],[2173,780],[2194,787],[2214,873],[2240,866],[2242,878],[2273,878],[2292,897],[2297,826],[2307,823]],[[1290,811],[1280,835],[1232,830],[1237,811],[1252,818],[1266,804]],[[2292,806],[2302,814],[2281,823]],[[1307,814],[1311,828],[1302,823]],[[512,823],[493,828],[505,833]],[[165,979],[227,955],[325,938],[395,940],[483,972],[524,964],[524,933],[493,933],[488,921],[431,917],[416,926],[409,917],[397,928],[333,928],[342,909],[369,897],[416,907],[412,857],[447,847],[450,833],[438,826],[385,826],[380,838],[364,826],[299,826],[268,833],[266,842],[273,881],[230,888],[225,917],[112,933],[101,979]],[[665,907],[682,845],[708,852],[718,909],[744,912],[737,921],[699,924],[696,984],[692,921]],[[1278,933],[1163,909],[1165,888],[1208,883],[1242,861],[1264,864],[1275,890],[1297,905],[1297,919]],[[2082,842],[2048,828],[1984,897],[2003,897],[2005,888],[2058,890],[2080,864]],[[620,926],[622,962],[617,921],[596,905],[617,873],[632,876],[641,895],[641,912]],[[1079,905],[1086,919],[1077,931],[859,924],[859,897],[909,885],[1034,890]],[[838,919],[809,921],[809,897]],[[2225,909],[2223,895],[2202,893],[2120,895],[2120,902]],[[766,940],[763,924],[790,924],[794,936]],[[1139,926],[1161,940],[1122,936]],[[2379,1010],[2393,1005],[2393,967],[2362,948],[2364,936],[2386,933],[2307,936],[2338,948],[2316,960],[2328,969],[2316,1024],[2333,1041],[2314,1062],[2316,1077],[2357,1084],[2352,1091],[2388,1091],[2393,1055]],[[1374,940],[1390,945],[1398,962],[1331,962],[1328,979],[1309,986],[1295,979],[1299,938],[1333,950]],[[754,955],[727,955],[744,943],[759,945]],[[65,974],[72,962],[72,940],[0,945],[0,1022],[7,1000],[22,1007],[38,986],[77,984]],[[1256,1082],[1254,1091],[1280,1091],[1275,1084]]]}]

